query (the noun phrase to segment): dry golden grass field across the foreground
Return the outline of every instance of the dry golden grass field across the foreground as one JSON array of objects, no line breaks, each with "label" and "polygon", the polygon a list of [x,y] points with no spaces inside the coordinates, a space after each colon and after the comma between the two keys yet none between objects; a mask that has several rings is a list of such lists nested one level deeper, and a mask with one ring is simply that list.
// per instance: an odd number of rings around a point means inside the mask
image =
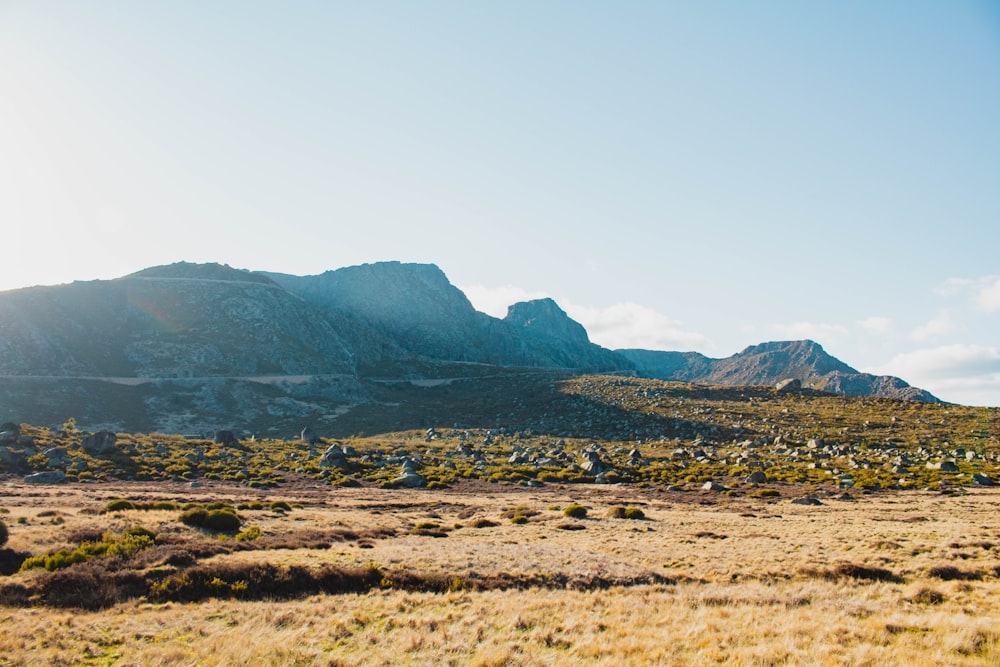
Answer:
[{"label": "dry golden grass field across the foreground", "polygon": [[[112,499],[281,498],[295,509],[241,512],[244,525],[291,545],[317,531],[369,537],[199,564],[374,566],[385,575],[370,592],[291,600],[3,606],[0,665],[1000,664],[995,489],[821,497],[820,506],[624,485],[260,491],[8,481],[0,494],[6,546],[31,554],[73,547],[81,531],[136,525],[175,540],[220,539],[176,511],[102,513]],[[573,502],[586,518],[563,515]],[[646,518],[610,518],[621,505]],[[527,521],[512,523],[517,515]],[[407,572],[439,575],[451,590],[393,587]],[[559,583],[477,590],[496,575]]]}]

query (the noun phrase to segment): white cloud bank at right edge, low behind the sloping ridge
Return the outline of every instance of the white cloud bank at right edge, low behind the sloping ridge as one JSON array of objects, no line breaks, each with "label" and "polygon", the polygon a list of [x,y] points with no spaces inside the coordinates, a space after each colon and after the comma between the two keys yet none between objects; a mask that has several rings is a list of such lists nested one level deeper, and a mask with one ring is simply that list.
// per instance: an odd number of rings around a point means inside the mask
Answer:
[{"label": "white cloud bank at right edge, low behind the sloping ridge", "polygon": [[1000,406],[1000,349],[984,345],[943,345],[899,354],[866,369],[895,375],[942,400]]}]

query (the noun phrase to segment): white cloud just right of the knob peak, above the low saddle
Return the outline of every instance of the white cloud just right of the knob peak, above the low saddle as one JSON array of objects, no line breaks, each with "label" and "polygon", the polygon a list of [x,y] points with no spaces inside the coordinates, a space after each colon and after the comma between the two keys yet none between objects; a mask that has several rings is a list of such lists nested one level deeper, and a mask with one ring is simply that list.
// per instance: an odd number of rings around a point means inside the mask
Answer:
[{"label": "white cloud just right of the knob peak, above the low saddle", "polygon": [[703,351],[712,347],[703,334],[687,331],[682,323],[637,303],[616,303],[606,308],[567,303],[563,307],[587,329],[590,340],[613,350]]}]

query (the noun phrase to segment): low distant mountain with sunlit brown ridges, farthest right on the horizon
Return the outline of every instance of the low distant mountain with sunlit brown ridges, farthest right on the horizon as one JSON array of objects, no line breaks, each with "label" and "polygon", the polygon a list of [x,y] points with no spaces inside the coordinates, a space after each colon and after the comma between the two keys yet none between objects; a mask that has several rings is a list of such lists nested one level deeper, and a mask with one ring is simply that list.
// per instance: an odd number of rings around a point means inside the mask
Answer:
[{"label": "low distant mountain with sunlit brown ridges, farthest right on the horizon", "polygon": [[861,373],[811,340],[761,343],[725,359],[711,359],[697,352],[617,352],[635,364],[640,375],[659,380],[773,385],[794,378],[803,387],[835,394],[940,402],[897,377]]}]

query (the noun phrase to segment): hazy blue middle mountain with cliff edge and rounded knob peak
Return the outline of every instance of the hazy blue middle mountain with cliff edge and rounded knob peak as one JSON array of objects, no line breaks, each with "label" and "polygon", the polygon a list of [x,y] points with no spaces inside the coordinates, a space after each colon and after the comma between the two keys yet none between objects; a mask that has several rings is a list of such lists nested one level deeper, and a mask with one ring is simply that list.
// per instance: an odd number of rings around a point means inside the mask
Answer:
[{"label": "hazy blue middle mountain with cliff edge and rounded knob peak", "polygon": [[362,370],[412,358],[595,372],[631,367],[591,343],[551,299],[515,304],[499,320],[476,311],[433,264],[378,262],[316,276],[262,275],[325,311],[334,326],[340,322],[366,332],[367,341],[378,340],[366,346],[354,336]]}]

